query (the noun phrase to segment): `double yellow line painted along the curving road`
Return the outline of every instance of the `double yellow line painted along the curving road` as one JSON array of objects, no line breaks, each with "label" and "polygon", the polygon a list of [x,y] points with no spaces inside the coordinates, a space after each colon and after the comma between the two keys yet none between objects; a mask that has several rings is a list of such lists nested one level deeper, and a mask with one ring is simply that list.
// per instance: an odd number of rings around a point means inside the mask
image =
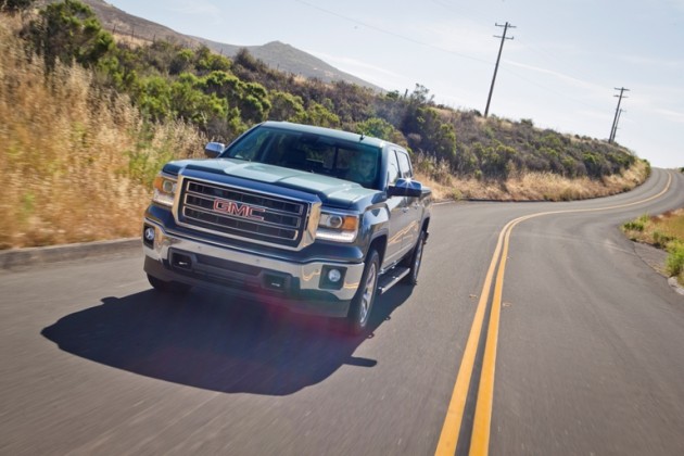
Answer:
[{"label": "double yellow line painted along the curving road", "polygon": [[470,335],[468,337],[466,350],[464,351],[464,357],[460,363],[460,368],[458,369],[458,376],[456,377],[456,384],[454,385],[452,398],[446,410],[446,417],[444,419],[444,425],[442,426],[442,433],[440,434],[440,441],[438,443],[435,455],[454,455],[456,452],[456,446],[458,445],[458,434],[463,425],[466,400],[468,397],[468,390],[470,389],[470,381],[472,379],[474,362],[478,354],[478,344],[482,334],[482,327],[487,303],[490,301],[494,273],[496,271],[496,281],[494,282],[494,295],[492,299],[491,307],[492,311],[490,314],[490,324],[487,327],[484,355],[482,358],[482,370],[480,372],[480,384],[478,388],[476,414],[470,439],[469,454],[486,455],[489,453],[492,406],[494,400],[496,346],[498,341],[502,294],[504,290],[504,274],[506,271],[506,261],[508,258],[510,235],[514,228],[524,220],[529,220],[530,218],[535,217],[542,217],[545,215],[598,212],[643,204],[663,195],[670,189],[671,183],[672,174],[669,173],[668,183],[666,185],[666,188],[658,194],[647,198],[645,200],[607,207],[542,212],[518,217],[506,224],[504,229],[502,229],[498,235],[496,249],[494,250],[494,255],[492,256],[492,261],[490,263],[490,267],[484,279],[482,292],[480,293],[480,301],[478,302],[478,308],[476,309],[472,327],[470,328]]}]

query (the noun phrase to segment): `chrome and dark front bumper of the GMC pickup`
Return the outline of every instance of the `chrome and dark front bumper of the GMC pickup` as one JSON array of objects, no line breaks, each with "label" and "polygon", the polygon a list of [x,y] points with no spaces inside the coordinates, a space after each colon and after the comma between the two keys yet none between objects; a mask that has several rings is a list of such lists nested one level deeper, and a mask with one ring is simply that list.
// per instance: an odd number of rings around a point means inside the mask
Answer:
[{"label": "chrome and dark front bumper of the GMC pickup", "polygon": [[[286,306],[294,312],[344,317],[358,289],[363,263],[284,261],[164,229],[149,218],[154,241],[143,240],[147,274],[164,281],[220,288],[231,294]],[[343,271],[334,286],[321,279],[327,268]]]}]

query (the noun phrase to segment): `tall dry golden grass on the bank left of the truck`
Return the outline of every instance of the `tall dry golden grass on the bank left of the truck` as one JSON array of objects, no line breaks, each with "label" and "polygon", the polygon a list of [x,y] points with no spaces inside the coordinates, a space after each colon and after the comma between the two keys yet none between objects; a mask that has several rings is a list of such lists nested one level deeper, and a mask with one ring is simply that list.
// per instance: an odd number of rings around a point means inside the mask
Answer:
[{"label": "tall dry golden grass on the bank left of the truck", "polygon": [[201,151],[182,123],[145,123],[125,97],[91,72],[47,74],[0,16],[0,248],[138,235],[151,175]]}]

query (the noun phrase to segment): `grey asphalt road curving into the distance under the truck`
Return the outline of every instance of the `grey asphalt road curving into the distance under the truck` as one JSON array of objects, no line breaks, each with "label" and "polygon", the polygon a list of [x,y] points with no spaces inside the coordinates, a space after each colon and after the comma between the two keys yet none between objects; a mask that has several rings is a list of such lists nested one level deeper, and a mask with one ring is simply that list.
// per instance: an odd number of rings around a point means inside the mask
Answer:
[{"label": "grey asphalt road curving into the distance under the truck", "polygon": [[[684,454],[684,296],[618,230],[681,206],[663,170],[608,199],[439,205],[420,283],[381,296],[363,339],[161,296],[140,252],[2,271],[0,454],[429,455],[445,435],[468,454],[486,372],[491,454]],[[495,299],[448,429],[499,235],[542,213],[509,230],[494,364]]]}]

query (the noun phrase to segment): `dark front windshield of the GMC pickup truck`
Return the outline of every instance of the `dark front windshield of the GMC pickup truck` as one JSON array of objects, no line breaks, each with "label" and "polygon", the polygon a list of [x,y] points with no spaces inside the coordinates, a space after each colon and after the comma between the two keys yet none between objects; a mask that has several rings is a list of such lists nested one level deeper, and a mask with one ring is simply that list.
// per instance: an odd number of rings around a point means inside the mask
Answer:
[{"label": "dark front windshield of the GMC pickup truck", "polygon": [[221,157],[325,174],[375,188],[380,149],[325,135],[259,127],[231,144]]}]

